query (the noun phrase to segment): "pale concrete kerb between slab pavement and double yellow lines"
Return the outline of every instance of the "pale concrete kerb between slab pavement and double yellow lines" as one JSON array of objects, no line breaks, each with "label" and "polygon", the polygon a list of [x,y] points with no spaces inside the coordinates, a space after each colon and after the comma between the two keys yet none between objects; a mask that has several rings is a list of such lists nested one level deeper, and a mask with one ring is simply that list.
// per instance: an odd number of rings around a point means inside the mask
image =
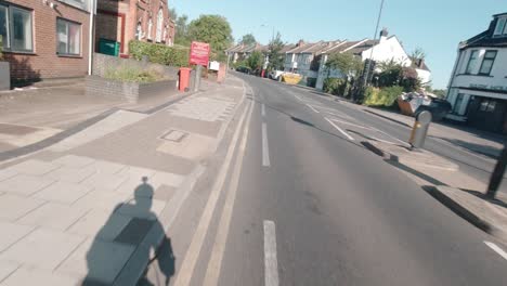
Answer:
[{"label": "pale concrete kerb between slab pavement and double yellow lines", "polygon": [[[245,81],[243,81],[243,96],[239,100],[236,107],[234,108],[232,115],[220,129],[219,134],[217,136],[218,143],[213,152],[220,145],[220,142],[224,136],[225,130],[229,128],[233,118],[237,115],[239,108],[246,107],[244,106],[244,102],[246,99],[246,90],[247,88],[245,86]],[[120,273],[115,278],[113,285],[135,285],[136,282],[142,277],[150,261],[156,259],[158,255],[157,252],[150,252],[150,246],[156,245],[157,248],[160,247],[161,243],[164,242],[164,236],[174,222],[174,219],[180,208],[182,207],[186,197],[190,195],[191,191],[194,188],[194,185],[205,172],[206,167],[204,167],[204,165],[198,165],[193,170],[193,172],[190,176],[187,176],[183,184],[177,191],[177,195],[169,202],[169,204],[166,205],[166,207],[159,214],[159,221],[164,227],[164,233],[161,233],[158,227],[152,226],[144,239],[141,242],[140,245],[138,245],[138,247],[127,261],[127,264],[121,269]],[[150,252],[148,258],[144,257],[143,255],[146,252]]]}]

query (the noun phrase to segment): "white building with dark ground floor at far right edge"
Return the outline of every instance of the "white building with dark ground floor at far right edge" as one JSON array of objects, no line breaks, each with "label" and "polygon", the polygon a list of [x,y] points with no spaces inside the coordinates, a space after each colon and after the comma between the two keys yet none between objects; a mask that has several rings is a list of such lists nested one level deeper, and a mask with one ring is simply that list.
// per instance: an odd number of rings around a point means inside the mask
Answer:
[{"label": "white building with dark ground floor at far right edge", "polygon": [[507,132],[507,13],[459,43],[448,83],[450,119],[494,132]]}]

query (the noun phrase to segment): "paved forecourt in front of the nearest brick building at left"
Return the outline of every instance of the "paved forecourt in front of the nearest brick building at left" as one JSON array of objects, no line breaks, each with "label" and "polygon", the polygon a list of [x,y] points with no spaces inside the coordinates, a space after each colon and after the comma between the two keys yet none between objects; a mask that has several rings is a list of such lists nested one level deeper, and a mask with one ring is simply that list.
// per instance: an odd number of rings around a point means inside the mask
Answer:
[{"label": "paved forecourt in front of the nearest brick building at left", "polygon": [[[168,93],[169,94],[169,93]],[[181,94],[155,94],[130,104],[84,94],[84,84],[0,92],[0,152],[35,144],[112,108],[145,112]]]}]

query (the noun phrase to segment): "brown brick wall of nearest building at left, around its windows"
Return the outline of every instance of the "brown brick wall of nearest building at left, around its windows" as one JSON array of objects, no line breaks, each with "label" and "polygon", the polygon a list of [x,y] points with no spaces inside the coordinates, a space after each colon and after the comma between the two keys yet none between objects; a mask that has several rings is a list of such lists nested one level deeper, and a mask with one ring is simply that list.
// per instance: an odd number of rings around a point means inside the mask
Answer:
[{"label": "brown brick wall of nearest building at left, around its windows", "polygon": [[[34,53],[9,53],[5,58],[11,63],[11,78],[34,80],[49,78],[82,77],[88,72],[89,13],[68,4],[57,4],[55,9],[41,0],[9,0],[8,3],[32,10]],[[81,55],[64,57],[56,54],[56,17],[81,24]]]}]

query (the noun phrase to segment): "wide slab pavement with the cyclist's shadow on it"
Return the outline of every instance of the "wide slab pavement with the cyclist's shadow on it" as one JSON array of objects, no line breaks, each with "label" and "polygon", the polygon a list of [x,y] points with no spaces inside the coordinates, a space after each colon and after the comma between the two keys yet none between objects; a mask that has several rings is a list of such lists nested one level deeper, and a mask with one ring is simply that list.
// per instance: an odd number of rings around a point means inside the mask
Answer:
[{"label": "wide slab pavement with the cyclist's shadow on it", "polygon": [[236,78],[206,90],[0,166],[0,285],[133,285],[145,265],[132,260],[156,248],[147,234],[164,235],[244,99]]}]

